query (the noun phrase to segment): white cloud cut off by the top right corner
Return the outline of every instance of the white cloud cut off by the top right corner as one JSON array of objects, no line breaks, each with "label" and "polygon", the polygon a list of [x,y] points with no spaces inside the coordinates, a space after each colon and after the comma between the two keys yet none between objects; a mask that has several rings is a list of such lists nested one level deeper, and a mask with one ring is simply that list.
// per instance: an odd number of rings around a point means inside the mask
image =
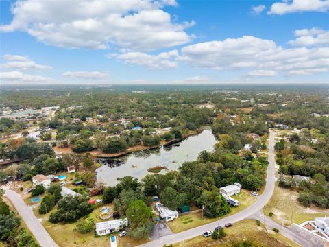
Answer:
[{"label": "white cloud cut off by the top right corner", "polygon": [[267,14],[289,14],[294,12],[326,12],[329,10],[329,0],[287,0],[271,5]]}]

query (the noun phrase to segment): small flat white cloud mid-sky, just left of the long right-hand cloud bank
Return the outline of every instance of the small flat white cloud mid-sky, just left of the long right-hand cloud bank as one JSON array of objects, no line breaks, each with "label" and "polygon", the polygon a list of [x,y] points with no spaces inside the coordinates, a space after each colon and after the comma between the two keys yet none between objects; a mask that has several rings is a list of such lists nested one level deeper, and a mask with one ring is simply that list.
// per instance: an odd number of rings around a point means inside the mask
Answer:
[{"label": "small flat white cloud mid-sky, just left of the long right-hand cloud bank", "polygon": [[123,54],[107,54],[106,56],[123,60],[126,64],[142,65],[149,69],[161,70],[178,67],[177,62],[173,60],[178,56],[177,50],[162,52],[158,55],[145,54],[143,52],[127,52]]}]

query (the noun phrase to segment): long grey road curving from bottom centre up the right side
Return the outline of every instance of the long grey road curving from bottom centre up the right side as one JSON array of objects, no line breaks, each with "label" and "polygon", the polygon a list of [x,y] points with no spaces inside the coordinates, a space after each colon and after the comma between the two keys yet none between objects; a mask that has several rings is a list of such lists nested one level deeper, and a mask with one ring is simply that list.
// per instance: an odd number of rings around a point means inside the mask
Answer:
[{"label": "long grey road curving from bottom centre up the right side", "polygon": [[204,233],[205,231],[212,230],[216,226],[220,225],[223,226],[226,223],[234,223],[239,222],[240,220],[243,220],[250,215],[256,213],[260,209],[263,209],[265,204],[269,201],[271,198],[274,186],[275,186],[275,175],[276,175],[276,169],[275,169],[275,154],[274,154],[274,132],[270,131],[269,134],[269,166],[267,167],[267,178],[266,178],[266,185],[265,189],[262,195],[258,196],[256,202],[252,204],[250,207],[247,207],[247,209],[244,209],[243,211],[240,211],[239,213],[236,213],[234,215],[230,215],[228,217],[225,217],[220,220],[220,222],[212,222],[210,224],[205,224],[203,226],[198,226],[195,228],[192,228],[187,231],[182,231],[180,233],[175,233],[171,235],[166,235],[164,237],[160,237],[159,239],[156,239],[154,241],[148,242],[146,244],[142,244],[141,246],[164,246],[164,244],[174,244],[177,242],[184,241],[186,239],[191,239],[192,237],[197,237]]}]

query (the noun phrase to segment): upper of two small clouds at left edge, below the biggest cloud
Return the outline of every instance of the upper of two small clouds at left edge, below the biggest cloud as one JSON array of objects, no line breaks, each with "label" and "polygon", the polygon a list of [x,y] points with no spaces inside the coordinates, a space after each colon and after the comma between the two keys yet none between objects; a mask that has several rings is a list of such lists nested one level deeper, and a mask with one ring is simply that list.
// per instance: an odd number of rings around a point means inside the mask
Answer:
[{"label": "upper of two small clouds at left edge, below the biggest cloud", "polygon": [[6,54],[3,55],[3,59],[8,61],[1,64],[1,67],[5,69],[19,69],[24,71],[51,69],[50,66],[37,64],[36,62],[30,60],[27,56]]}]

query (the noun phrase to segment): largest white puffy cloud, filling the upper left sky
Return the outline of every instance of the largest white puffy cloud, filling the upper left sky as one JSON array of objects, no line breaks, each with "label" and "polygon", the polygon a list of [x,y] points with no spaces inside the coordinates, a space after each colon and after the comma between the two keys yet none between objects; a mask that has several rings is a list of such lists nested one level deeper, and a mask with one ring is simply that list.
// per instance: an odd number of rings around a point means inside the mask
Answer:
[{"label": "largest white puffy cloud, filling the upper left sky", "polygon": [[[26,0],[12,4],[13,20],[2,32],[21,30],[42,43],[68,49],[111,45],[150,51],[188,43],[194,21],[174,23],[164,6],[173,0]],[[74,11],[73,11],[74,10]]]}]

